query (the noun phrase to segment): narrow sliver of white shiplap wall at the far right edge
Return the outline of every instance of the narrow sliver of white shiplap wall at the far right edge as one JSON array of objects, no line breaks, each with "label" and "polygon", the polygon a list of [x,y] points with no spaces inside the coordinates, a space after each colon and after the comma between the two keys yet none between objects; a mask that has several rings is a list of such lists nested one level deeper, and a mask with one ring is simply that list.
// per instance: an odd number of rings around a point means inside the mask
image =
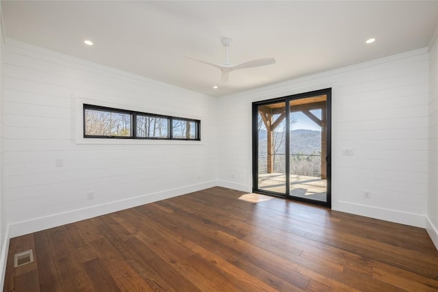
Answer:
[{"label": "narrow sliver of white shiplap wall at the far right edge", "polygon": [[[438,33],[438,27],[437,27]],[[435,34],[436,36],[436,34]],[[429,47],[428,221],[426,229],[438,248],[438,39]]]}]

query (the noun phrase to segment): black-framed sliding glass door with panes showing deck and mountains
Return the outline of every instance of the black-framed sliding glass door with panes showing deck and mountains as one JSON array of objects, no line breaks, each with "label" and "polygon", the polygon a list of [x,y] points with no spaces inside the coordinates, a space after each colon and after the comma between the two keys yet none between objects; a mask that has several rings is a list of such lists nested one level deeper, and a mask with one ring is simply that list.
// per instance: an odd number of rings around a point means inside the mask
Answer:
[{"label": "black-framed sliding glass door with panes showing deck and mountains", "polygon": [[253,191],[331,206],[331,90],[253,103]]}]

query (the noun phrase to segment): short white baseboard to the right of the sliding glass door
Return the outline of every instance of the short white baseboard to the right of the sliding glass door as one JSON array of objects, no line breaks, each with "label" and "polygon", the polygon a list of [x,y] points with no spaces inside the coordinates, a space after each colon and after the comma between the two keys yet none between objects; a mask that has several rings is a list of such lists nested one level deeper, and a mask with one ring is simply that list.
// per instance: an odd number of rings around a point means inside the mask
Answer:
[{"label": "short white baseboard to the right of the sliding glass door", "polygon": [[414,213],[400,212],[391,209],[383,209],[363,204],[355,204],[351,202],[337,201],[333,204],[335,211],[342,211],[350,214],[371,217],[375,219],[395,222],[420,228],[426,227],[426,216]]}]

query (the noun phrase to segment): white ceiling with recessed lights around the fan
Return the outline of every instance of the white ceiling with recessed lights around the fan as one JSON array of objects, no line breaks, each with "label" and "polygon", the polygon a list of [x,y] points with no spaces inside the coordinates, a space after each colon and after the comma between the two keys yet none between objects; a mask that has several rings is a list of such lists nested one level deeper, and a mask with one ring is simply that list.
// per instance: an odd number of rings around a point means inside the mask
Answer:
[{"label": "white ceiling with recessed lights around the fan", "polygon": [[[426,47],[438,18],[437,1],[3,0],[1,9],[7,38],[210,96]],[[183,57],[222,63],[224,37],[232,63],[276,64],[220,85],[220,70]]]}]

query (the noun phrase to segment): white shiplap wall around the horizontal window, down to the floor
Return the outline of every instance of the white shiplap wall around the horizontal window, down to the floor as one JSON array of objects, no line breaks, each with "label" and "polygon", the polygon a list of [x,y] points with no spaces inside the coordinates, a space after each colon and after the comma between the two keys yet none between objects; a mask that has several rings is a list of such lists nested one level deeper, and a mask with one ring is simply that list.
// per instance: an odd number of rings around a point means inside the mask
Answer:
[{"label": "white shiplap wall around the horizontal window, down to the floor", "polygon": [[[3,70],[10,237],[216,185],[215,98],[15,40]],[[197,118],[202,141],[78,144],[81,101]]]}]

